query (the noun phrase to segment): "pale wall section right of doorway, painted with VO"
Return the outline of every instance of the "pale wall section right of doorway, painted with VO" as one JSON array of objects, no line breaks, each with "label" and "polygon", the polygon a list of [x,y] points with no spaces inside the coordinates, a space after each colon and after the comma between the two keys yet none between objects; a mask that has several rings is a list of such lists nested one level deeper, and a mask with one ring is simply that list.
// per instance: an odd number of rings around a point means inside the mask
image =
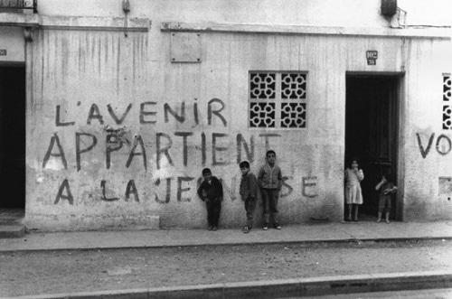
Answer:
[{"label": "pale wall section right of doorway, painted with VO", "polygon": [[452,70],[451,43],[416,40],[406,49],[404,220],[450,220],[452,184],[444,178],[452,177],[452,132],[442,128],[442,111],[443,74]]}]

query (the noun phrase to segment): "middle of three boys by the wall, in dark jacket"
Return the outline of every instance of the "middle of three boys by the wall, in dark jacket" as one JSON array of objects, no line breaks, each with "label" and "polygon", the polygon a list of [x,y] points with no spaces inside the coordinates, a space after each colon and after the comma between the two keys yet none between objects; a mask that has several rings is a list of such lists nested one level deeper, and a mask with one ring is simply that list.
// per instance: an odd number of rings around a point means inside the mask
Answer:
[{"label": "middle of three boys by the wall, in dark jacket", "polygon": [[241,171],[240,195],[242,201],[245,201],[245,210],[247,211],[247,225],[243,227],[243,232],[248,233],[253,227],[254,210],[258,196],[258,180],[254,173],[250,172],[250,163],[243,161],[239,164]]}]

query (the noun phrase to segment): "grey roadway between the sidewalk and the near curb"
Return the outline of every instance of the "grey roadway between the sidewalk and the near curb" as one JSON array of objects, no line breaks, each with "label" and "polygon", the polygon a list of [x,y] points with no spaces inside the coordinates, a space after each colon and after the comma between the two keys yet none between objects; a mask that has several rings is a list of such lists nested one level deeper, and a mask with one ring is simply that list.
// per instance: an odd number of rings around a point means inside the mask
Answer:
[{"label": "grey roadway between the sidewalk and the near curb", "polygon": [[2,252],[0,294],[452,272],[450,252],[441,239]]}]

